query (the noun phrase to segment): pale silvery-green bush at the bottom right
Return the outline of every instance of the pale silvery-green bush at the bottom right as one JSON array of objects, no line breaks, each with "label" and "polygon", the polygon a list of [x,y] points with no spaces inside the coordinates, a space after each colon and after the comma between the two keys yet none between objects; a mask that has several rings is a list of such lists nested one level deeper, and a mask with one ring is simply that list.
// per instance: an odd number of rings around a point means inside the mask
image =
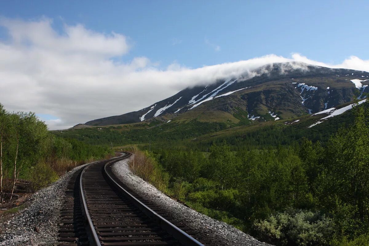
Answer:
[{"label": "pale silvery-green bush at the bottom right", "polygon": [[334,223],[318,211],[287,209],[254,222],[254,229],[261,239],[276,245],[328,245]]}]

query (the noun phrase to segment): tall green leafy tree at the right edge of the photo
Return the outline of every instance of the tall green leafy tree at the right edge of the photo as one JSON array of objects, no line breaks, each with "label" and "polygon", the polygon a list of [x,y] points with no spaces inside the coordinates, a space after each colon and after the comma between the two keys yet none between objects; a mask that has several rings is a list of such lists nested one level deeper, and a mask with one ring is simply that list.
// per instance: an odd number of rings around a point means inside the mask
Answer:
[{"label": "tall green leafy tree at the right edge of the photo", "polygon": [[[366,103],[365,103],[366,104]],[[352,109],[354,124],[330,138],[325,166],[323,201],[337,211],[350,205],[354,217],[368,223],[369,213],[369,114],[366,105]],[[352,211],[352,209],[351,209]]]}]

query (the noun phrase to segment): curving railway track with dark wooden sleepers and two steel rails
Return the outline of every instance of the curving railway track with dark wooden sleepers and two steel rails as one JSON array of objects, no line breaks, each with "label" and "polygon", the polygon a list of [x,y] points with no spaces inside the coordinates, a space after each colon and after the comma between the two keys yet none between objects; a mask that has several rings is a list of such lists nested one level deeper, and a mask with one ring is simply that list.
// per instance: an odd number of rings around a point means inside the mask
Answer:
[{"label": "curving railway track with dark wooden sleepers and two steel rails", "polygon": [[208,243],[115,177],[111,164],[130,155],[89,164],[72,176],[61,209],[59,246]]}]

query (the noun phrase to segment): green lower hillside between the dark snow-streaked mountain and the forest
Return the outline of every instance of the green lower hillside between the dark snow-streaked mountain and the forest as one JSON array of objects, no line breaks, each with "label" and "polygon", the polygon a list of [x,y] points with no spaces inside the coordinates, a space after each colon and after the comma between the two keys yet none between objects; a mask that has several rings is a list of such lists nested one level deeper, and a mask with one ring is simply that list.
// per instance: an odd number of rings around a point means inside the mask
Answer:
[{"label": "green lower hillside between the dark snow-streaked mountain and the forest", "polygon": [[[365,100],[362,100],[364,102]],[[252,121],[250,124],[185,120],[149,121],[132,124],[88,126],[77,125],[54,131],[63,138],[74,138],[93,145],[136,145],[151,149],[200,149],[206,151],[213,142],[227,141],[233,149],[275,148],[290,145],[306,137],[325,144],[332,133],[352,122],[351,103],[288,120]]]}]

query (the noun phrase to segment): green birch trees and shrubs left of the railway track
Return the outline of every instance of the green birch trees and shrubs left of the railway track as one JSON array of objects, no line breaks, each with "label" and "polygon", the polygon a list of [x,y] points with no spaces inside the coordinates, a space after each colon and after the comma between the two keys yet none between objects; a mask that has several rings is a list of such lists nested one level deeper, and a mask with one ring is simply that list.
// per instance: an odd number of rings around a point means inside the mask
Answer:
[{"label": "green birch trees and shrubs left of the railway track", "polygon": [[[14,198],[19,179],[36,191],[66,171],[113,155],[108,146],[60,138],[32,112],[8,112],[0,104],[0,201]],[[6,205],[6,204],[5,204]]]}]

